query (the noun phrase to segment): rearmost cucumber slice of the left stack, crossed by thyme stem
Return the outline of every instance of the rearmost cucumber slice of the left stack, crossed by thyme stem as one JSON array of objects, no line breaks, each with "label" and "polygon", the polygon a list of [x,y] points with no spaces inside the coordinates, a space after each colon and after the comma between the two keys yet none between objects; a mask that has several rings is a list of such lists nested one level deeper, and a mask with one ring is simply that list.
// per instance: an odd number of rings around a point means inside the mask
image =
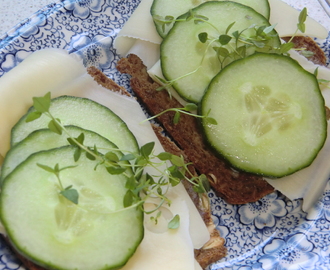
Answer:
[{"label": "rearmost cucumber slice of the left stack, crossed by thyme stem", "polygon": [[[42,115],[39,119],[26,122],[31,107],[13,127],[11,145],[23,140],[32,131],[47,128],[50,119]],[[87,98],[60,96],[52,99],[50,111],[64,125],[75,125],[92,130],[113,142],[123,152],[138,153],[138,143],[126,123],[109,108]]]}]

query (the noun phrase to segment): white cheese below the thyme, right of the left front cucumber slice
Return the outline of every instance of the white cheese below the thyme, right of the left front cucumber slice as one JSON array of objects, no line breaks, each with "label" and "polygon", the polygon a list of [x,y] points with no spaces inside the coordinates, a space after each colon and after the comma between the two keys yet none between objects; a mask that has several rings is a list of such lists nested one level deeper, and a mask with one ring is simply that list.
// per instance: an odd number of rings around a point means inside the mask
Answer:
[{"label": "white cheese below the thyme, right of the left front cucumber slice", "polygon": [[[122,270],[195,269],[194,252],[189,236],[188,207],[175,189],[172,189],[168,197],[173,201],[169,211],[173,216],[180,215],[180,227],[158,233],[145,226],[142,243]],[[145,216],[145,220],[148,220],[148,216]]]}]

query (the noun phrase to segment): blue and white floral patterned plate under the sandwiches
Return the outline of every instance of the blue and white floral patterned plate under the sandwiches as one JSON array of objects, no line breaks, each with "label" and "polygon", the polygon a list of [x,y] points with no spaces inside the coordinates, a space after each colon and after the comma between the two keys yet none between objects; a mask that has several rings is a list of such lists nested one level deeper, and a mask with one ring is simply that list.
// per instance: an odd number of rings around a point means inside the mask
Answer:
[{"label": "blue and white floral patterned plate under the sandwiches", "polygon": [[[62,48],[96,65],[120,85],[112,44],[139,0],[62,0],[46,6],[0,37],[0,76],[35,50]],[[329,45],[320,46],[329,53]],[[228,255],[216,269],[330,269],[330,182],[309,213],[300,200],[274,192],[256,203],[230,205],[209,193],[214,222],[226,240]],[[267,224],[267,225],[265,225]],[[24,269],[0,241],[0,270]],[[190,269],[187,269],[190,270]]]}]

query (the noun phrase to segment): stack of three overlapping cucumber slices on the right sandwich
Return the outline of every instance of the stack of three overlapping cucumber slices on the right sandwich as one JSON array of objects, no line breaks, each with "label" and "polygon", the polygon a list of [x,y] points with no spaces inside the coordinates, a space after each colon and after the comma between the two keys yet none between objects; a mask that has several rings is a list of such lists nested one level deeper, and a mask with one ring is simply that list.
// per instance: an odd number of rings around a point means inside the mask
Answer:
[{"label": "stack of three overlapping cucumber slices on the right sandwich", "polygon": [[232,167],[279,178],[309,166],[327,137],[325,102],[270,25],[268,2],[197,2],[151,7],[164,88],[200,105],[201,131]]}]

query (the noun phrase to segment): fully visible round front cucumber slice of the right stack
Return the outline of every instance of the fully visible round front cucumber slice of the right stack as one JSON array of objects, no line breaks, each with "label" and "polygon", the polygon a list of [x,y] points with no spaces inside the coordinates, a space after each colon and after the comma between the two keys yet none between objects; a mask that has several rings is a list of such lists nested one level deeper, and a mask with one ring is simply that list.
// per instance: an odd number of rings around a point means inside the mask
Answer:
[{"label": "fully visible round front cucumber slice of the right stack", "polygon": [[225,67],[201,102],[209,110],[211,146],[235,168],[269,177],[309,166],[327,136],[318,81],[287,56],[258,53]]}]

